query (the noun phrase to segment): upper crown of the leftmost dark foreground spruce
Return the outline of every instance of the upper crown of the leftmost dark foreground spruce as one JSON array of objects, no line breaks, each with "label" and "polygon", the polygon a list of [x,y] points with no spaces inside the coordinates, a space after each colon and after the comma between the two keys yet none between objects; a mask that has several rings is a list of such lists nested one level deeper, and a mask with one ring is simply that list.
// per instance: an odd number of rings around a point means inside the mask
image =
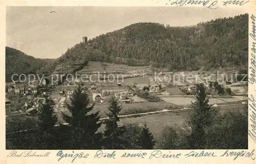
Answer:
[{"label": "upper crown of the leftmost dark foreground spruce", "polygon": [[52,105],[51,99],[47,98],[46,102],[38,109],[38,126],[41,130],[50,130],[58,121]]}]

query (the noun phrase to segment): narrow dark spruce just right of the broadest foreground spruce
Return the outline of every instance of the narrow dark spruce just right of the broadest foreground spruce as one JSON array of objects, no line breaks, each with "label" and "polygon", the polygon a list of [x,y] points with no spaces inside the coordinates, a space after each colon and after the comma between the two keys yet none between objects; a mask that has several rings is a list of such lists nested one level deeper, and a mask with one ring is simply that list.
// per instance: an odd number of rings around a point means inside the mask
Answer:
[{"label": "narrow dark spruce just right of the broadest foreground spruce", "polygon": [[106,149],[124,149],[125,141],[122,135],[125,132],[125,126],[118,126],[118,113],[122,110],[122,105],[112,96],[108,107],[109,113],[105,114],[109,117],[105,120],[104,146]]}]

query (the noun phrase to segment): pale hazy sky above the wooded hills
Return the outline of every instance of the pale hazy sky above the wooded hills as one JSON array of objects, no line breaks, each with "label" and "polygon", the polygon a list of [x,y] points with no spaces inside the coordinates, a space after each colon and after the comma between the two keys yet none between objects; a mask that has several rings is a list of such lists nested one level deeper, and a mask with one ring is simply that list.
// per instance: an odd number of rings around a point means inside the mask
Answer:
[{"label": "pale hazy sky above the wooded hills", "polygon": [[133,23],[184,26],[244,13],[205,7],[7,7],[6,45],[35,58],[58,58],[83,36],[92,39]]}]

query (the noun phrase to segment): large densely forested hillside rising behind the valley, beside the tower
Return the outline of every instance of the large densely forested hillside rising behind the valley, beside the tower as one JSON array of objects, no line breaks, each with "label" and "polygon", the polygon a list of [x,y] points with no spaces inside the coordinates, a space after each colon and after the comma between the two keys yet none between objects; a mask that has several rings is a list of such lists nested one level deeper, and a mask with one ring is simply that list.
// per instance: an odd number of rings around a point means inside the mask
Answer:
[{"label": "large densely forested hillside rising behind the valley, beside the tower", "polygon": [[151,64],[170,70],[207,70],[247,67],[247,56],[248,14],[244,14],[184,27],[135,23],[93,38],[87,44],[76,44],[54,65],[74,65],[88,60]]}]

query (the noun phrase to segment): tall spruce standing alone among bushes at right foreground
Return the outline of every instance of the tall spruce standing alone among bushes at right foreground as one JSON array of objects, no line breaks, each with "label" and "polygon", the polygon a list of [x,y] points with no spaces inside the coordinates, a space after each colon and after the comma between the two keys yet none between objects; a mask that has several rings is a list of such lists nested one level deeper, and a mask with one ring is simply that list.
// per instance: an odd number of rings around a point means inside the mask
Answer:
[{"label": "tall spruce standing alone among bushes at right foreground", "polygon": [[218,116],[218,110],[208,104],[209,98],[203,84],[197,85],[196,102],[192,102],[193,110],[188,114],[186,122],[191,127],[188,139],[191,149],[204,149],[205,134]]}]

